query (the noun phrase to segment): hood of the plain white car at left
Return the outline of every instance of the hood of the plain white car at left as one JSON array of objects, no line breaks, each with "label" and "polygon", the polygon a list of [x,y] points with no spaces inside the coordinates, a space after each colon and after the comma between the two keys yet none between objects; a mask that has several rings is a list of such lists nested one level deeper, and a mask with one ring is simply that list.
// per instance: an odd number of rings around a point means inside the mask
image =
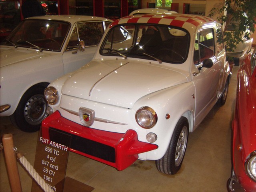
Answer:
[{"label": "hood of the plain white car at left", "polygon": [[0,67],[23,62],[26,60],[41,58],[51,55],[49,51],[38,51],[30,48],[14,48],[8,46],[0,46]]}]

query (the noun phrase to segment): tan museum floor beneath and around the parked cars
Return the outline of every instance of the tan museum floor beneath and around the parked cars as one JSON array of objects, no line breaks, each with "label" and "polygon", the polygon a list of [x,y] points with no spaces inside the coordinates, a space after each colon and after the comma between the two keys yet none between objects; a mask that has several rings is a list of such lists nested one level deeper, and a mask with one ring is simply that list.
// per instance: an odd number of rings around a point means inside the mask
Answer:
[{"label": "tan museum floor beneath and around the parked cars", "polygon": [[[94,188],[93,192],[225,192],[231,175],[231,123],[234,115],[236,74],[233,68],[227,102],[210,111],[198,128],[190,133],[180,171],[165,175],[154,161],[137,160],[123,171],[69,153],[66,176]],[[0,118],[0,136],[12,134],[14,145],[34,164],[38,132],[15,128],[8,117]],[[32,178],[18,164],[23,192],[30,192]],[[0,192],[10,192],[4,151],[0,151]]]}]

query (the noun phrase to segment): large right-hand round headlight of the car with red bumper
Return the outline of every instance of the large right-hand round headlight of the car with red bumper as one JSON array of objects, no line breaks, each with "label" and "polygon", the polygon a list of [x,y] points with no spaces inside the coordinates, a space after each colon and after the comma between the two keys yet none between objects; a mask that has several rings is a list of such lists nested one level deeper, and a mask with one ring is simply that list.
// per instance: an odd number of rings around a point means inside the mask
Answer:
[{"label": "large right-hand round headlight of the car with red bumper", "polygon": [[157,122],[156,112],[147,106],[140,108],[135,115],[136,122],[144,129],[152,128]]}]

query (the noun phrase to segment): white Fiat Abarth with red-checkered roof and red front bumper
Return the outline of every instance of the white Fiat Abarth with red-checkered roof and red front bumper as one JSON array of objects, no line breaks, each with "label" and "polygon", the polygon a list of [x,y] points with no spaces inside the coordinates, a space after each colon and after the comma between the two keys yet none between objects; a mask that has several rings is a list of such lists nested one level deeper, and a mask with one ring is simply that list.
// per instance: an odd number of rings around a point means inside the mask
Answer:
[{"label": "white Fiat Abarth with red-checkered roof and red front bumper", "polygon": [[230,77],[214,20],[127,16],[110,24],[91,62],[46,88],[42,137],[117,170],[156,160],[175,174],[189,132],[225,103]]}]

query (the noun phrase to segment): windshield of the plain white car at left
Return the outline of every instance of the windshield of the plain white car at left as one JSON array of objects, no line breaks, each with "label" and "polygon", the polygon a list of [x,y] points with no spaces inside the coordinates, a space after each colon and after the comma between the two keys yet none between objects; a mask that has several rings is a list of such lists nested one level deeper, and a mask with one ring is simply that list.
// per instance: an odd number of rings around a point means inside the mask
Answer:
[{"label": "windshield of the plain white car at left", "polygon": [[54,20],[23,20],[2,45],[60,51],[70,24]]}]

